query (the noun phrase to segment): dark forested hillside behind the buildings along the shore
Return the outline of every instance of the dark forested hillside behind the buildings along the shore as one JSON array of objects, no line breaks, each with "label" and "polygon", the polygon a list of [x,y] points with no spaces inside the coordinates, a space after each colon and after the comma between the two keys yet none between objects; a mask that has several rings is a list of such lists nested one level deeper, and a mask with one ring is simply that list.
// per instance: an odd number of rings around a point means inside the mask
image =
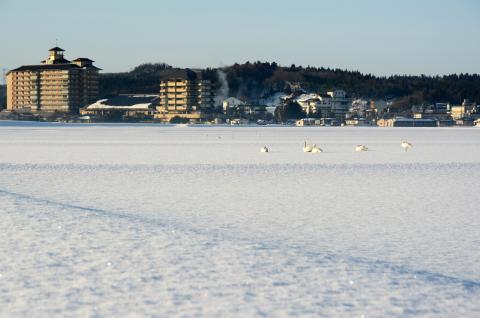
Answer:
[{"label": "dark forested hillside behind the buildings along the shore", "polygon": [[[165,63],[143,64],[126,73],[101,74],[101,95],[157,93],[160,79],[172,69]],[[343,89],[352,97],[394,98],[399,108],[434,102],[460,103],[463,99],[480,102],[479,74],[377,77],[357,71],[262,62],[234,64],[220,70],[226,74],[228,95],[252,102],[299,87],[316,93]],[[203,72],[217,87],[221,86],[216,69]]]}]

